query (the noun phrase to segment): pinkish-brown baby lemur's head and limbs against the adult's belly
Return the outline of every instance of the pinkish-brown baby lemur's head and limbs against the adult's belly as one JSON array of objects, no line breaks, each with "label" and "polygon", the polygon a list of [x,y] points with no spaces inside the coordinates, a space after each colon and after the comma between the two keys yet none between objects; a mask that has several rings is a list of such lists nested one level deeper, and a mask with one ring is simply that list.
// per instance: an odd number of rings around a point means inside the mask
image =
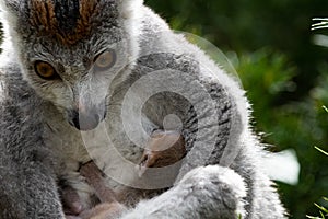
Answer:
[{"label": "pinkish-brown baby lemur's head and limbs against the adult's belly", "polygon": [[[180,134],[176,131],[156,130],[151,135],[148,145],[144,148],[143,155],[139,163],[140,176],[148,168],[163,168],[174,164],[186,154],[185,140]],[[63,203],[71,208],[72,215],[67,216],[68,219],[110,219],[117,218],[126,207],[119,201],[125,203],[126,196],[138,196],[142,192],[131,192],[129,188],[122,191],[120,194],[115,194],[110,188],[105,186],[103,173],[94,162],[89,162],[81,166],[80,173],[85,177],[91,187],[94,188],[95,195],[98,197],[101,204],[89,210],[82,210],[77,207],[77,193],[67,188],[62,197]],[[133,191],[133,188],[131,188]],[[140,193],[141,192],[141,193]],[[136,197],[138,199],[138,197]],[[69,204],[71,203],[71,204]]]}]

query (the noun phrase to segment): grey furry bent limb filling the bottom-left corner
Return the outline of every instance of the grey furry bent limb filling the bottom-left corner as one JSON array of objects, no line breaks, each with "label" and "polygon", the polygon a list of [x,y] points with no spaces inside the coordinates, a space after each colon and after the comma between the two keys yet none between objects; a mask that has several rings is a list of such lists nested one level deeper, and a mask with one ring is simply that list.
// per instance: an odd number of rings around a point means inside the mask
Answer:
[{"label": "grey furry bent limb filling the bottom-left corner", "polygon": [[43,162],[0,163],[0,218],[65,218],[55,177]]}]

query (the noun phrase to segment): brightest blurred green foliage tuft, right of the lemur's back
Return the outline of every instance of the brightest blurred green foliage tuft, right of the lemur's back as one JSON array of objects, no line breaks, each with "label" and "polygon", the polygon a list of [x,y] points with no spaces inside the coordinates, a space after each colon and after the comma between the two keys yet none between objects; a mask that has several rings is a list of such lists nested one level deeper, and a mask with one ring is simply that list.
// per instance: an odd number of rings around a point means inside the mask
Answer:
[{"label": "brightest blurred green foliage tuft, right of the lemur's back", "polygon": [[[254,105],[256,114],[279,104],[281,93],[293,92],[296,89],[296,84],[291,81],[295,76],[295,68],[288,64],[284,55],[272,49],[262,48],[254,53],[244,53],[235,67],[247,96],[256,102]],[[261,115],[261,119],[269,122],[272,117],[267,114]]]}]

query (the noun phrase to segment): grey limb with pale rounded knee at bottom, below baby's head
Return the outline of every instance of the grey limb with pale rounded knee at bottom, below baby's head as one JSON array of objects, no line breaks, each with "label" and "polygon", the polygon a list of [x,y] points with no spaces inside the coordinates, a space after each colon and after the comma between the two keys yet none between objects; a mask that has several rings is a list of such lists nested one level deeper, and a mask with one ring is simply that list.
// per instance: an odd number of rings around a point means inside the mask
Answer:
[{"label": "grey limb with pale rounded knee at bottom, below baby's head", "polygon": [[235,219],[239,214],[244,216],[242,199],[245,195],[245,185],[238,174],[227,168],[209,165],[190,171],[176,186],[139,203],[121,219]]}]

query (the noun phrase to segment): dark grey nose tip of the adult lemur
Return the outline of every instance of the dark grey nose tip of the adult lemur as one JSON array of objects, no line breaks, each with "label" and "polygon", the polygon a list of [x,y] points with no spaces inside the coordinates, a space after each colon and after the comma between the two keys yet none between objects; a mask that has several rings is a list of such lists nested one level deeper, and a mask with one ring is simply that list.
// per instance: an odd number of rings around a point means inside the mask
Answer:
[{"label": "dark grey nose tip of the adult lemur", "polygon": [[79,130],[92,130],[99,124],[101,116],[97,113],[79,113],[78,111],[72,111],[70,124],[78,128]]}]

